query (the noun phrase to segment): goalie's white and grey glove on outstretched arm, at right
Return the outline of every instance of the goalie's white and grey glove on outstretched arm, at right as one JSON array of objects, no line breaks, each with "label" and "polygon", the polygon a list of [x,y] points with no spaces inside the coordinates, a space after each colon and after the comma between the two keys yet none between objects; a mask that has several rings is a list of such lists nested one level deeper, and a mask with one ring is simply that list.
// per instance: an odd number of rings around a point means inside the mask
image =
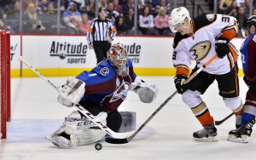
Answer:
[{"label": "goalie's white and grey glove on outstretched arm, at right", "polygon": [[154,84],[150,83],[131,83],[131,89],[138,94],[140,100],[144,103],[151,103],[158,93],[158,89]]}]

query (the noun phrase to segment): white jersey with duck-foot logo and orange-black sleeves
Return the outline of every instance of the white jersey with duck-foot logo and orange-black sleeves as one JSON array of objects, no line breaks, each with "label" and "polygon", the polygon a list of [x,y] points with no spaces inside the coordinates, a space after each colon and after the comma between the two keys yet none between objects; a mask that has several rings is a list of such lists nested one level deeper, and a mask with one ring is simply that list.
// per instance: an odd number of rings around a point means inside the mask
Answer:
[{"label": "white jersey with duck-foot logo and orange-black sleeves", "polygon": [[[177,74],[189,74],[191,60],[195,60],[198,67],[210,60],[215,51],[217,37],[236,37],[238,23],[236,18],[224,14],[201,14],[191,21],[193,35],[181,35],[177,32],[174,37],[172,62],[177,68]],[[203,71],[222,75],[230,71],[236,63],[237,50],[230,43],[230,54],[223,59],[215,59]]]}]

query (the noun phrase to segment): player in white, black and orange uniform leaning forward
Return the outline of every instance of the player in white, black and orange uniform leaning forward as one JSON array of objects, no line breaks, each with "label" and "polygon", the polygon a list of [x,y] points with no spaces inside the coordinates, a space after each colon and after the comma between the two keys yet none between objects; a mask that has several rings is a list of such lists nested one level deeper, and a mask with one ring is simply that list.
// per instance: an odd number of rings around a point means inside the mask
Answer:
[{"label": "player in white, black and orange uniform leaning forward", "polygon": [[[236,18],[224,14],[201,14],[191,20],[189,11],[183,7],[173,9],[169,26],[177,32],[173,43],[173,66],[177,69],[174,83],[183,102],[191,108],[203,129],[193,133],[194,140],[217,141],[217,129],[207,104],[201,99],[207,88],[217,80],[219,95],[225,106],[236,114],[236,125],[241,124],[243,111],[239,97],[237,77],[237,51],[230,43],[236,37]],[[191,60],[196,61],[192,73],[218,54],[218,57],[204,68],[189,83]],[[191,74],[192,74],[191,73]]]}]

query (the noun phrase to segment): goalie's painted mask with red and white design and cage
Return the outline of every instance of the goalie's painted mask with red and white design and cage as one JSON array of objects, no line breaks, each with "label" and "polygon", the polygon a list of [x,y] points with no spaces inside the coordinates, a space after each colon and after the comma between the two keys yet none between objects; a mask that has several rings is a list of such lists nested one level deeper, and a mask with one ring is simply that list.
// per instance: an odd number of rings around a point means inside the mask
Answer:
[{"label": "goalie's painted mask with red and white design and cage", "polygon": [[122,70],[123,68],[125,68],[125,64],[128,60],[128,54],[126,49],[120,43],[113,44],[108,50],[107,60],[114,68]]}]

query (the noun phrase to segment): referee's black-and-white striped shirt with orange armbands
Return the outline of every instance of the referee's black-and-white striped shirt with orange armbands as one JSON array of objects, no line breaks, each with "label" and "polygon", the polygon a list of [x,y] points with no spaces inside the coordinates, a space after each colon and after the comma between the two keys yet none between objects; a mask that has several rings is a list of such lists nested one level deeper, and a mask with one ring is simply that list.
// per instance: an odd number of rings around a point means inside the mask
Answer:
[{"label": "referee's black-and-white striped shirt with orange armbands", "polygon": [[113,24],[108,20],[100,20],[95,18],[91,20],[90,27],[87,31],[87,42],[92,44],[93,41],[104,42],[108,41],[108,38],[113,38],[116,35],[116,29]]}]

